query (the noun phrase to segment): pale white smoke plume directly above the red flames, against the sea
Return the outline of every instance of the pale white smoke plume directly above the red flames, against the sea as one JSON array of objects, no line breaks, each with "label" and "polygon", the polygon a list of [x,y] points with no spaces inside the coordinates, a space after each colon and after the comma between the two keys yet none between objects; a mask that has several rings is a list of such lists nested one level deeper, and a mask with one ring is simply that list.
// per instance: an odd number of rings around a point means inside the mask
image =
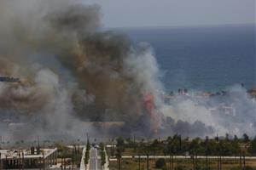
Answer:
[{"label": "pale white smoke plume directly above the red flames, against the sea", "polygon": [[160,92],[164,91],[160,77],[162,76],[159,65],[155,59],[154,51],[146,42],[141,42],[138,50],[132,50],[125,59],[127,75],[136,78],[136,82],[143,88],[143,93],[151,93],[157,105],[160,105]]}]

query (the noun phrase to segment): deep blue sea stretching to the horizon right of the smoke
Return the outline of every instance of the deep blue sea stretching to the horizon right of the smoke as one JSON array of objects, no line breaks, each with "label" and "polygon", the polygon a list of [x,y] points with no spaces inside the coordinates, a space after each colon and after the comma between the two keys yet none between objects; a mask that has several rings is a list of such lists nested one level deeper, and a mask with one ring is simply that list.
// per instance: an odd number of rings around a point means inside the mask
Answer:
[{"label": "deep blue sea stretching to the horizon right of the smoke", "polygon": [[255,25],[123,28],[134,43],[148,42],[167,90],[218,91],[256,87]]}]

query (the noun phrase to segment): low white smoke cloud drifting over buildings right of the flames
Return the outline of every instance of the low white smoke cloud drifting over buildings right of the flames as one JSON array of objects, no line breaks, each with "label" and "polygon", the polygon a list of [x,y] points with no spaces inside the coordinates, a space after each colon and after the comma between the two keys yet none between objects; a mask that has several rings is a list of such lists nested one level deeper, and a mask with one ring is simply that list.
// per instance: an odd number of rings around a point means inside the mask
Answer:
[{"label": "low white smoke cloud drifting over buildings right of the flames", "polygon": [[[176,122],[182,120],[193,124],[199,121],[212,127],[212,133],[201,133],[202,135],[255,135],[255,99],[252,99],[241,86],[227,88],[223,96],[177,96],[176,99],[172,99],[172,104],[164,105],[161,111]],[[203,130],[201,129],[202,132]]]}]

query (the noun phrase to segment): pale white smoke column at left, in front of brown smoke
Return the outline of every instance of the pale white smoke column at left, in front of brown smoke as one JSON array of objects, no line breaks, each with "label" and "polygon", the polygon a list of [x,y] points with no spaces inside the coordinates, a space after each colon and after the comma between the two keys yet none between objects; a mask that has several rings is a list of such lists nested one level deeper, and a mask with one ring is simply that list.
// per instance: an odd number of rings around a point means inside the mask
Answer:
[{"label": "pale white smoke column at left, in front of brown smoke", "polygon": [[[50,135],[59,135],[60,138],[65,136],[66,138],[77,138],[84,134],[85,129],[91,131],[91,127],[86,127],[84,122],[81,122],[74,115],[73,102],[71,100],[72,89],[61,87],[59,78],[52,71],[39,71],[36,82],[41,92],[44,91],[44,94],[49,94],[46,105],[40,111],[42,112],[41,115],[46,114],[44,118],[47,122],[40,133],[46,134],[48,137]],[[88,102],[85,97],[86,95],[83,96],[81,104]],[[49,129],[49,131],[54,129],[55,133],[45,131],[45,129]]]}]

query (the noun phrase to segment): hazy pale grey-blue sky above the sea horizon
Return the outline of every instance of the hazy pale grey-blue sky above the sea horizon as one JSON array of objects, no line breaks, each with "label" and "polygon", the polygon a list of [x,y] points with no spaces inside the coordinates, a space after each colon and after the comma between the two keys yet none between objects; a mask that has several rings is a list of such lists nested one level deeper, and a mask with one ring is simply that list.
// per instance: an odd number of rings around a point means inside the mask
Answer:
[{"label": "hazy pale grey-blue sky above the sea horizon", "polygon": [[255,0],[84,0],[102,7],[106,27],[255,23]]}]

